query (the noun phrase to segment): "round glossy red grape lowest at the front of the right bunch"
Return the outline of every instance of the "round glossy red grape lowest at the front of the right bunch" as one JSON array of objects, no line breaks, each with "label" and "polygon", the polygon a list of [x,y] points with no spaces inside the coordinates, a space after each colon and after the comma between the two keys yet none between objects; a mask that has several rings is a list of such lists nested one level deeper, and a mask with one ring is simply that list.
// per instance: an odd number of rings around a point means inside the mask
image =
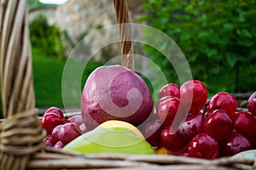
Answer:
[{"label": "round glossy red grape lowest at the front of the right bunch", "polygon": [[191,157],[212,160],[218,157],[218,141],[207,133],[200,133],[189,141],[188,150]]}]

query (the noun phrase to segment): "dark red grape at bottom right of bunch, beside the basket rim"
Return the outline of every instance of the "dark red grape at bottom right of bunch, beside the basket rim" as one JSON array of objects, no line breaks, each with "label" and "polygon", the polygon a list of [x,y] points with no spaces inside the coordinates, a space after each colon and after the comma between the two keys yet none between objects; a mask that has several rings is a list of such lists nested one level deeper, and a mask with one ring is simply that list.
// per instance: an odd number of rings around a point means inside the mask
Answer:
[{"label": "dark red grape at bottom right of bunch, beside the basket rim", "polygon": [[233,132],[228,139],[219,142],[220,156],[234,156],[235,154],[253,149],[253,144],[241,133]]}]

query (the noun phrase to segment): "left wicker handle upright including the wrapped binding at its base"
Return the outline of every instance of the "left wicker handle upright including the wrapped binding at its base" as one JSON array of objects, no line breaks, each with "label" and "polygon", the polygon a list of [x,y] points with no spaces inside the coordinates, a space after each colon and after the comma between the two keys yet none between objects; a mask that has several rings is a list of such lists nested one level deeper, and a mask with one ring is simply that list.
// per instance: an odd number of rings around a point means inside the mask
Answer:
[{"label": "left wicker handle upright including the wrapped binding at its base", "polygon": [[23,170],[30,156],[44,147],[45,136],[34,108],[27,1],[0,2],[0,168]]}]

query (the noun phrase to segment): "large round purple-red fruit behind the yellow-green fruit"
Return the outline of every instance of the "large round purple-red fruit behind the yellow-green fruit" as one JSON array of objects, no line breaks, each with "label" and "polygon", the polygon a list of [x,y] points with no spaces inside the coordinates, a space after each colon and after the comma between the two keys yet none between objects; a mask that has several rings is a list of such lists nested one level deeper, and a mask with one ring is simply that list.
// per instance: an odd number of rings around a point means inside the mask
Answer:
[{"label": "large round purple-red fruit behind the yellow-green fruit", "polygon": [[138,126],[147,120],[153,107],[146,82],[122,65],[101,66],[93,71],[81,98],[81,113],[89,130],[108,120]]}]

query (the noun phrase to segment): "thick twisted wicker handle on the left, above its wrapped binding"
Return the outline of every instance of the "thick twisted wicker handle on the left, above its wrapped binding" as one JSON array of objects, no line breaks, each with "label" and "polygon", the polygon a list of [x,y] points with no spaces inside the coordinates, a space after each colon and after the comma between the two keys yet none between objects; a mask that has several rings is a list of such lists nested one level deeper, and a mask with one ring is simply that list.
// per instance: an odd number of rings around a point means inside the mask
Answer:
[{"label": "thick twisted wicker handle on the left, above its wrapped binding", "polygon": [[26,0],[1,0],[0,64],[4,117],[35,106],[26,3]]}]

